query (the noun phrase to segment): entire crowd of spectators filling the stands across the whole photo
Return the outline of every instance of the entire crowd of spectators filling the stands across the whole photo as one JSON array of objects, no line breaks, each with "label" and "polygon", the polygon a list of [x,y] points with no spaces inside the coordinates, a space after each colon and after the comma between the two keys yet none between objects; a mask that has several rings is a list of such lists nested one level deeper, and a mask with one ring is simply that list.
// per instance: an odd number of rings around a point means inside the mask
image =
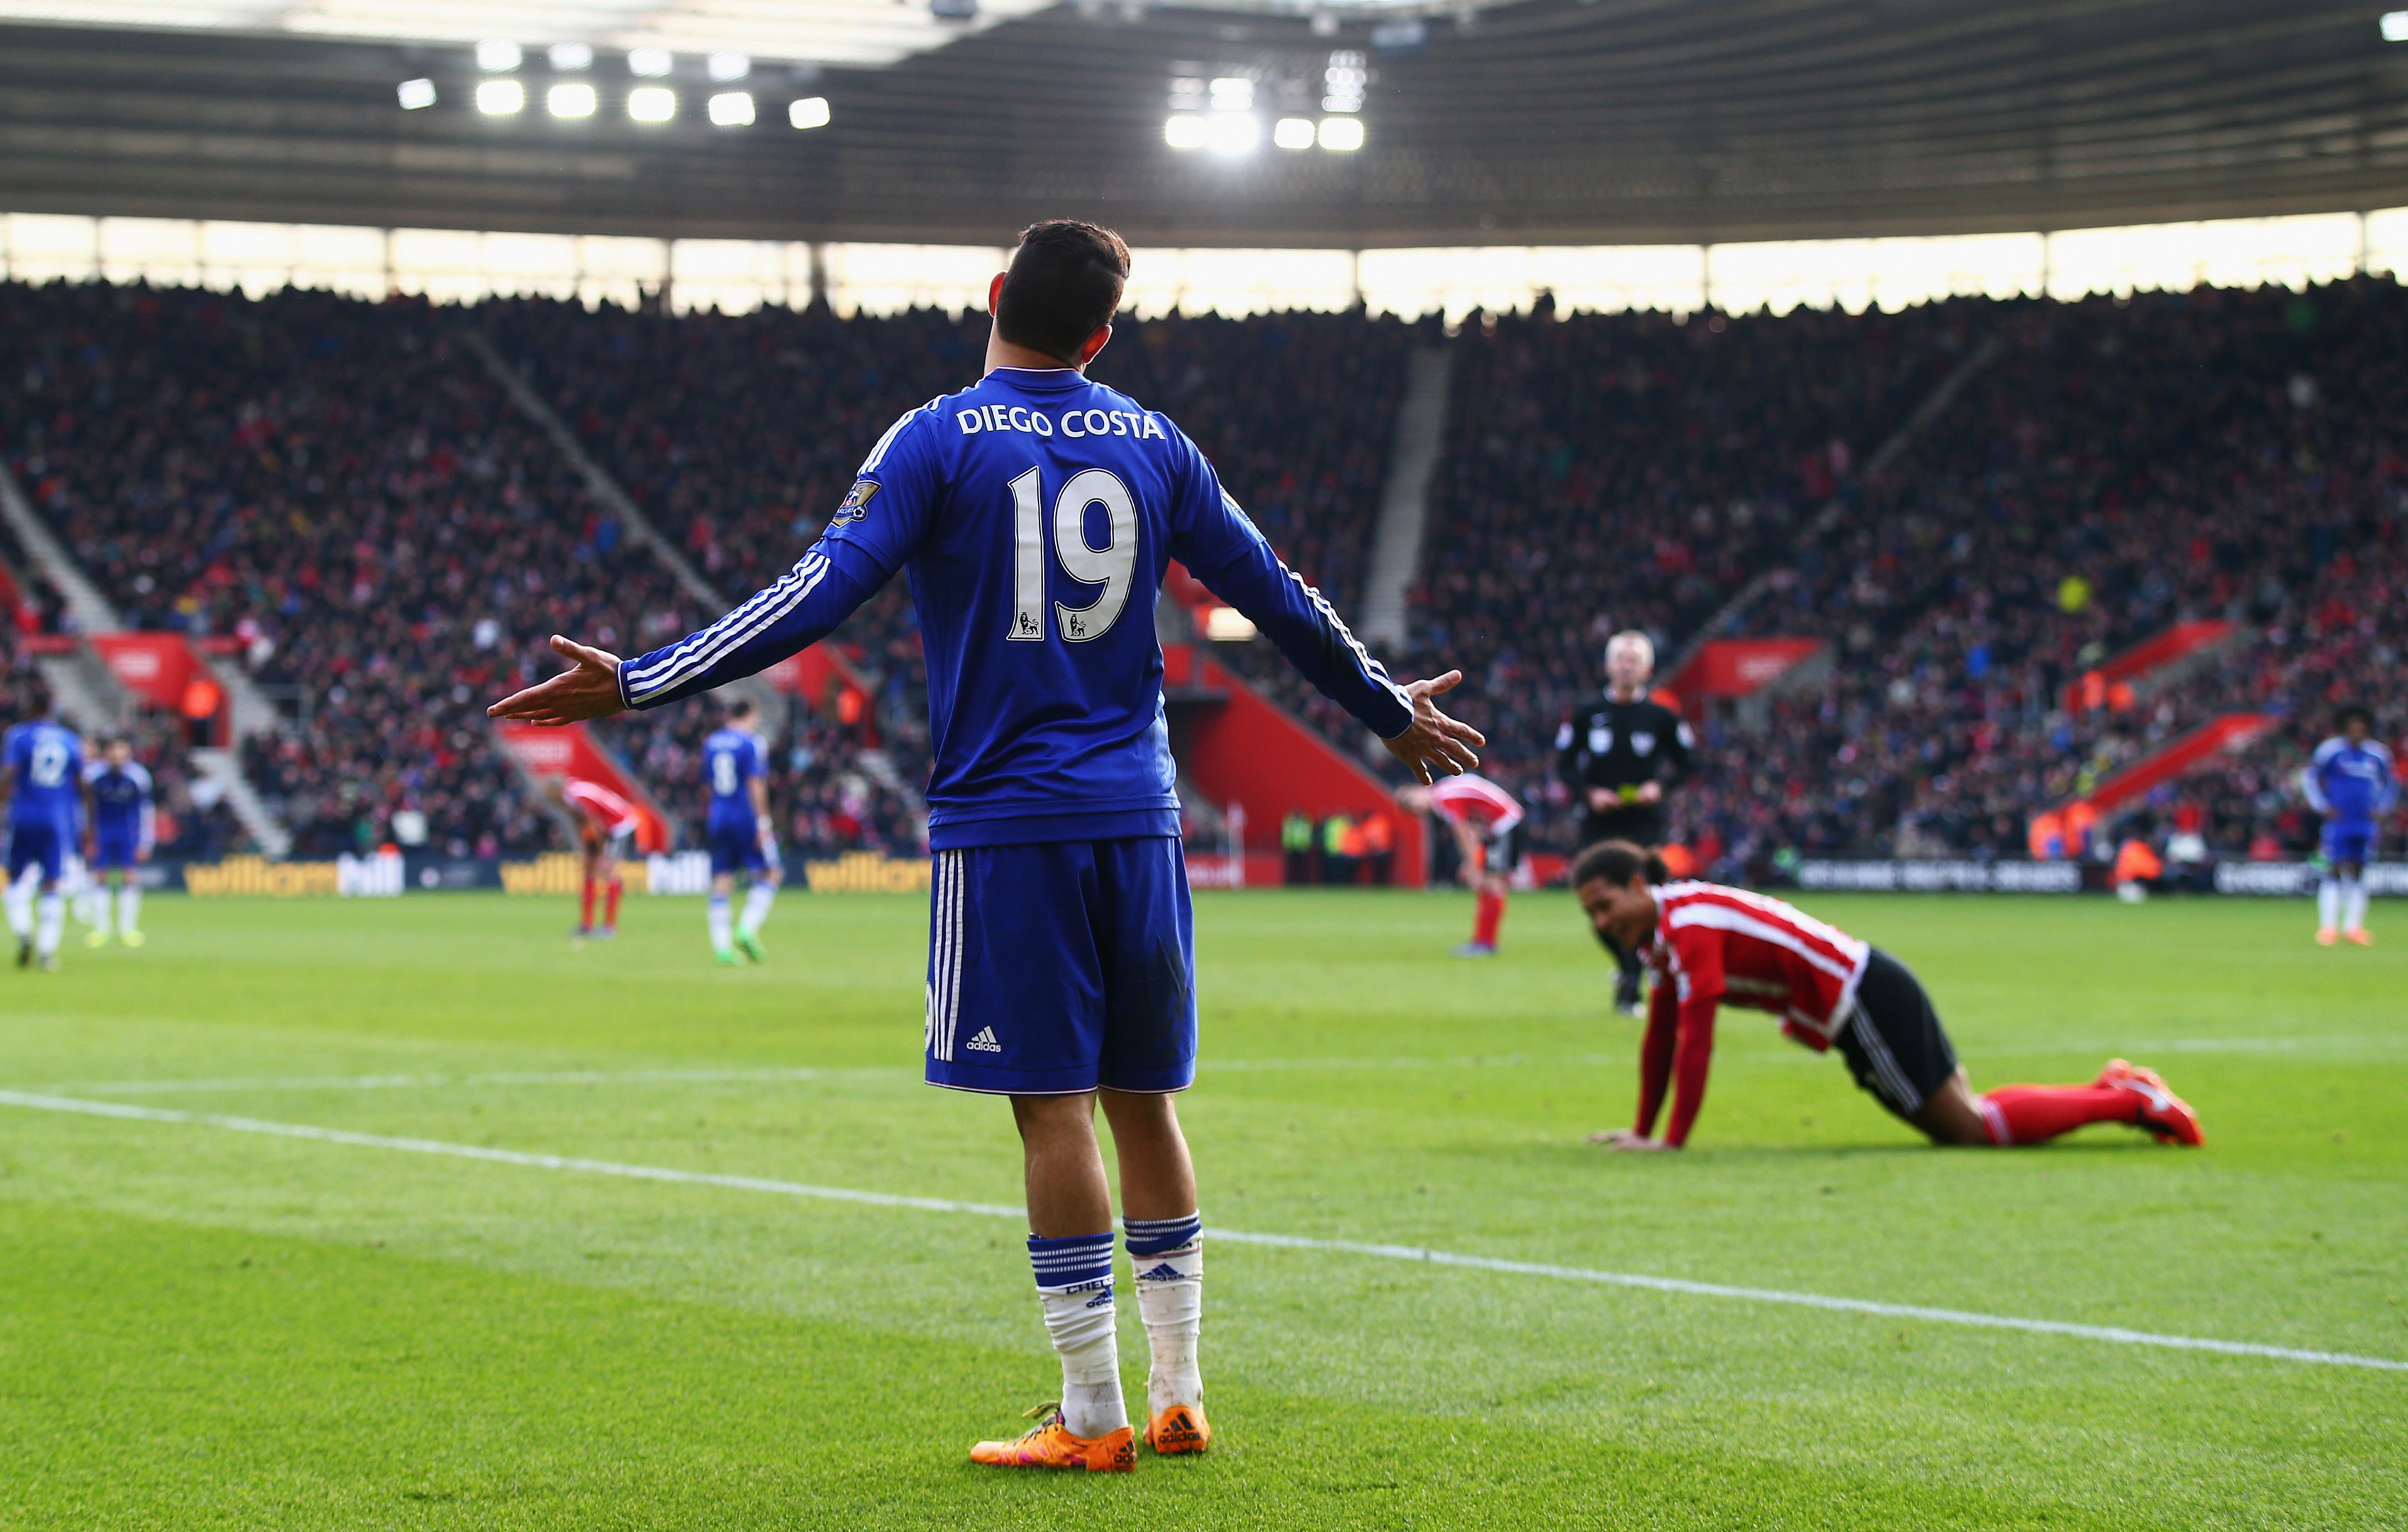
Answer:
[{"label": "entire crowd of spectators filling the stands across the whole photo", "polygon": [[[246,768],[311,855],[556,843],[482,703],[554,667],[551,631],[641,650],[715,614],[508,407],[465,323],[730,600],[792,566],[877,436],[973,381],[985,342],[982,316],[927,311],[455,313],[0,284],[17,357],[0,453],[132,619],[231,638],[299,699]],[[1361,313],[1132,320],[1096,376],[1180,422],[1353,614],[1416,342],[1438,337]],[[1671,658],[1712,626],[1825,638],[1832,658],[1767,727],[1702,720],[1676,831],[1719,872],[1784,850],[2015,855],[2037,807],[2239,708],[2278,727],[2143,807],[2179,800],[2227,855],[2302,850],[2314,824],[2290,778],[2331,708],[2408,723],[2408,446],[2384,412],[2408,385],[2403,342],[2389,279],[1898,316],[1476,316],[1447,342],[1416,643],[1392,660],[1464,665],[1462,711],[1541,845],[1570,831],[1548,742],[1597,687],[1604,636],[1635,626]],[[2066,706],[2102,658],[2189,617],[2237,636],[2109,706]],[[51,621],[36,595],[34,624]],[[903,583],[833,646],[867,696],[792,708],[773,742],[780,838],[908,855],[927,718]],[[1361,744],[1267,643],[1218,658]],[[600,730],[686,841],[710,725],[677,708]],[[217,819],[197,805],[195,824]]]}]

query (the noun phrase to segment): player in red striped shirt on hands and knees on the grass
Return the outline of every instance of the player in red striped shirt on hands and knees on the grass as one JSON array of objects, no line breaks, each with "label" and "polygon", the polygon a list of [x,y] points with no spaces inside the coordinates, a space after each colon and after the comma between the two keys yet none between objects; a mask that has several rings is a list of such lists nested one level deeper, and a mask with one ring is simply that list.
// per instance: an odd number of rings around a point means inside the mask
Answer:
[{"label": "player in red striped shirt on hands and knees on the grass", "polygon": [[[2203,1144],[2199,1115],[2153,1070],[2109,1060],[2083,1086],[2003,1086],[1975,1096],[1924,985],[1905,964],[1780,898],[1671,882],[1664,860],[1604,841],[1572,862],[1589,923],[1657,973],[1640,1043],[1635,1127],[1589,1135],[1616,1149],[1678,1149],[1705,1106],[1722,1004],[1772,1012],[1782,1033],[1837,1048],[1857,1084],[1934,1144],[2037,1144],[2085,1123],[2129,1123]],[[1664,1137],[1657,1113],[1671,1094]]]}]

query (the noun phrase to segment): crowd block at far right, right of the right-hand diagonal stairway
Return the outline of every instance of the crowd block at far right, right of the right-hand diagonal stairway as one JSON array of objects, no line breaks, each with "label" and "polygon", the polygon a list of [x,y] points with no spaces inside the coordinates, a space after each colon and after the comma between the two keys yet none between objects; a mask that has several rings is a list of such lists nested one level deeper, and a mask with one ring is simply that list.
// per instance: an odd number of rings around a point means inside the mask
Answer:
[{"label": "crowd block at far right, right of the right-hand diagonal stairway", "polygon": [[[2271,711],[2247,756],[2138,809],[2162,826],[2211,802],[2218,855],[2304,855],[2295,776],[2333,708],[2408,725],[2391,424],[2408,294],[2357,279],[1975,316],[1999,359],[1746,614],[1741,631],[1828,638],[1835,665],[1731,740],[1690,819],[1741,855],[2015,855],[2035,809],[2220,713]],[[2083,706],[2085,672],[2184,619],[2237,638]]]}]

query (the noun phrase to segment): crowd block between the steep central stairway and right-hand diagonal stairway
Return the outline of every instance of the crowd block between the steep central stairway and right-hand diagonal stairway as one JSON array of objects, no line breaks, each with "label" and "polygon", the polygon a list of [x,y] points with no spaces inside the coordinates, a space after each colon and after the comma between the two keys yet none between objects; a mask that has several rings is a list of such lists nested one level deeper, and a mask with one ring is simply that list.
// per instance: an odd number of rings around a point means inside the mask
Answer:
[{"label": "crowd block between the steep central stairway and right-hand diagonal stairway", "polygon": [[1454,340],[1447,453],[1406,670],[1459,665],[1488,771],[1568,850],[1556,725],[1601,684],[1606,636],[1669,660],[1857,491],[1977,342],[1960,304],[1898,316],[1481,318]]}]

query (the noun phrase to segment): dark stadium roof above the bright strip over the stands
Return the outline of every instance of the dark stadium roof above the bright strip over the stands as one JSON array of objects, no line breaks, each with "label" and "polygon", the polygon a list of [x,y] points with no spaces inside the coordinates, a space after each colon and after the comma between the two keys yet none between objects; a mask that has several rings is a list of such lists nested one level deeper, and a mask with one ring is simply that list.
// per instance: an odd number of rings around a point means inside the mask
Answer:
[{"label": "dark stadium roof above the bright strip over the stands", "polygon": [[[869,10],[811,5],[679,0],[638,26],[609,24],[636,14],[624,0],[0,0],[17,14],[224,22],[0,26],[0,207],[927,243],[999,243],[1074,212],[1144,243],[1327,248],[1970,234],[2408,202],[2408,43],[2386,43],[2362,2],[1522,0],[1399,22],[1368,5],[1279,14],[1281,0],[1007,17],[1011,0],[987,0],[987,24],[954,31],[877,5],[915,39],[886,43],[884,67],[809,63],[807,46],[780,51],[783,19],[744,22]],[[443,24],[419,41],[294,34],[294,17],[371,12]],[[578,36],[537,31],[571,12],[585,17]],[[527,29],[525,63],[506,72],[525,84],[515,116],[472,106],[501,77],[458,41],[472,19]],[[633,79],[614,48],[653,36],[761,63],[725,84],[691,51],[669,77]],[[600,55],[556,77],[544,46],[585,39]],[[1165,116],[1197,101],[1178,92],[1209,79],[1250,82],[1264,123],[1329,116],[1334,51],[1370,70],[1351,113],[1358,152],[1165,145]],[[402,111],[402,79],[431,79],[433,106]],[[559,79],[595,84],[597,113],[551,118]],[[677,120],[628,120],[638,84],[677,89]],[[725,89],[756,96],[751,125],[706,120],[703,96]],[[799,96],[824,96],[833,120],[790,128]]]}]

